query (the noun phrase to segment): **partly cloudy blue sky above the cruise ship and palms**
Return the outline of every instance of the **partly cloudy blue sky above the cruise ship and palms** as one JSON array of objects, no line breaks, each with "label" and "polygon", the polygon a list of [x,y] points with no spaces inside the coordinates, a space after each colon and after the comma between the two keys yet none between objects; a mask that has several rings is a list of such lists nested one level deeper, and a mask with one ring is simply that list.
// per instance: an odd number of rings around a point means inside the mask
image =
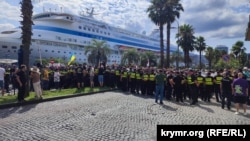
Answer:
[{"label": "partly cloudy blue sky above the cruise ship and palms", "polygon": [[[20,26],[20,0],[0,0],[0,31]],[[150,0],[32,0],[33,14],[43,11],[68,12],[79,15],[94,8],[97,20],[112,26],[149,35],[156,25],[146,9]],[[250,41],[245,41],[249,22],[250,0],[181,0],[184,11],[178,22],[172,23],[171,44],[176,46],[177,27],[189,24],[194,36],[202,36],[208,46],[225,45],[230,48],[243,41],[250,53]],[[166,27],[166,26],[165,26]],[[166,29],[164,27],[164,36]]]}]

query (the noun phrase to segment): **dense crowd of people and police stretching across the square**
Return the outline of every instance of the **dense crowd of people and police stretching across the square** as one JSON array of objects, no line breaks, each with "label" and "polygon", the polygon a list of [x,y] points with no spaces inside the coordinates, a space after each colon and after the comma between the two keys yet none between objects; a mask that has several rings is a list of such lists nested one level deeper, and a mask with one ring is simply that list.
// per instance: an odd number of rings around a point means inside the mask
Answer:
[{"label": "dense crowd of people and police stretching across the square", "polygon": [[[163,104],[163,99],[184,102],[189,100],[191,105],[198,101],[211,102],[214,96],[221,108],[230,110],[231,102],[235,102],[236,113],[243,105],[246,114],[246,104],[249,104],[250,69],[204,71],[194,69],[157,69],[156,67],[119,66],[100,63],[93,67],[86,64],[76,64],[67,67],[32,67],[30,78],[37,98],[41,99],[42,90],[111,87],[137,95],[155,97],[155,102]],[[5,72],[0,68],[0,88],[4,87]],[[19,69],[11,68],[10,83],[18,88],[18,100],[23,101],[23,77],[25,65]],[[38,71],[40,70],[40,71]],[[16,80],[16,81],[15,81]],[[39,87],[40,86],[40,87]]]}]

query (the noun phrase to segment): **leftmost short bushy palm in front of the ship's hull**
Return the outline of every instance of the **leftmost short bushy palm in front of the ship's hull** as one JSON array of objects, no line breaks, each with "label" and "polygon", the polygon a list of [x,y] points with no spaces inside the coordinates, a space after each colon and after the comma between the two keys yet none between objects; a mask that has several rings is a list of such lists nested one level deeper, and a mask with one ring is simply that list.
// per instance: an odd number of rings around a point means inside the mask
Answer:
[{"label": "leftmost short bushy palm in front of the ship's hull", "polygon": [[92,44],[85,47],[85,55],[88,55],[88,62],[91,64],[99,65],[100,62],[107,62],[107,55],[111,52],[106,44],[106,41],[92,40]]}]

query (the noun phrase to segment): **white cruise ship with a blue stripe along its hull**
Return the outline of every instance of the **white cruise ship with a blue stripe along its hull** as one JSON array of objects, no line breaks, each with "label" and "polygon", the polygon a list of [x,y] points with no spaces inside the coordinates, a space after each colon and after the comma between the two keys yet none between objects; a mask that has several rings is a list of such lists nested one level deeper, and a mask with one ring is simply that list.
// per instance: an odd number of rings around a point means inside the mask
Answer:
[{"label": "white cruise ship with a blue stripe along its hull", "polygon": [[[87,62],[84,46],[92,39],[104,40],[110,47],[111,54],[107,64],[120,64],[121,50],[160,51],[159,37],[154,33],[146,36],[113,27],[89,15],[72,15],[63,12],[43,12],[33,16],[32,44],[30,62],[41,58],[62,58],[68,61],[70,54],[75,54],[75,62]],[[17,59],[21,45],[21,29],[15,28],[0,33],[0,59]],[[171,51],[174,48],[171,48]]]}]

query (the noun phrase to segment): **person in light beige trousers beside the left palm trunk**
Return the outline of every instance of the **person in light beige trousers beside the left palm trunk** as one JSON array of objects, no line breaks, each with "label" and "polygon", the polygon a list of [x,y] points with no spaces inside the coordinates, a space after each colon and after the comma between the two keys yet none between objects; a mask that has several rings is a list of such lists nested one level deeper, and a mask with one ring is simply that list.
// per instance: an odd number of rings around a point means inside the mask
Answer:
[{"label": "person in light beige trousers beside the left palm trunk", "polygon": [[32,85],[36,93],[36,99],[42,99],[42,88],[40,81],[40,72],[37,67],[31,69],[30,78],[32,80]]}]

